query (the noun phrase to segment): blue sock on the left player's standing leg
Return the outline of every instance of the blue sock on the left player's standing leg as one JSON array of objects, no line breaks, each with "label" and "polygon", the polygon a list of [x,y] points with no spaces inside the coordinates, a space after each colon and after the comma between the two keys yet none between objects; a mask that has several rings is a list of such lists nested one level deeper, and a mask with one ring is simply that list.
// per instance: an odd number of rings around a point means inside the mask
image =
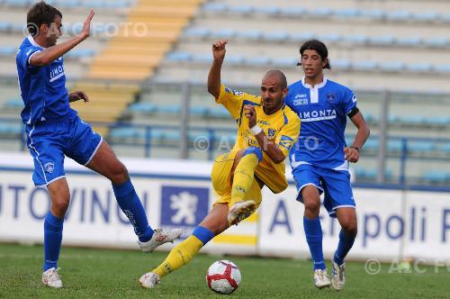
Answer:
[{"label": "blue sock on the left player's standing leg", "polygon": [[64,219],[47,213],[44,220],[44,272],[50,267],[58,268]]}]

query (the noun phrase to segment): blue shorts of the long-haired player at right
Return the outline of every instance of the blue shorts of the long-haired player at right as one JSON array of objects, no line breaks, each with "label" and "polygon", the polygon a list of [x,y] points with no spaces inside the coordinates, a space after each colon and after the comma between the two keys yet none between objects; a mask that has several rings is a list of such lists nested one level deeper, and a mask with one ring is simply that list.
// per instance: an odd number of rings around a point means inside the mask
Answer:
[{"label": "blue shorts of the long-haired player at right", "polygon": [[316,186],[319,193],[324,193],[323,205],[331,217],[336,218],[336,209],[356,207],[350,185],[350,174],[346,170],[319,168],[309,164],[302,164],[293,169],[293,179],[297,186],[297,200],[302,200],[304,186]]}]

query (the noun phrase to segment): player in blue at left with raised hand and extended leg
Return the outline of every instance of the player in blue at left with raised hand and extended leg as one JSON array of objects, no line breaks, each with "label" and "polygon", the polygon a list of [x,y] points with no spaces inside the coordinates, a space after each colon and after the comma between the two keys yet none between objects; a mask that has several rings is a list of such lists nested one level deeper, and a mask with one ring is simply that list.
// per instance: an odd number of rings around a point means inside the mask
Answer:
[{"label": "player in blue at left with raised hand and extended leg", "polygon": [[88,102],[89,98],[82,91],[67,93],[63,55],[89,37],[93,17],[94,11],[91,11],[82,32],[57,45],[62,14],[44,2],[33,5],[27,14],[30,35],[23,40],[16,57],[25,104],[22,119],[34,161],[32,180],[36,186],[46,186],[51,198],[50,211],[44,221],[42,282],[56,288],[62,286],[58,257],[70,199],[64,173],[65,156],[111,180],[117,202],[130,219],[142,251],[152,251],[182,233],[180,230],[154,231],[150,228],[127,168],[115,157],[106,141],[70,108],[69,102]]}]

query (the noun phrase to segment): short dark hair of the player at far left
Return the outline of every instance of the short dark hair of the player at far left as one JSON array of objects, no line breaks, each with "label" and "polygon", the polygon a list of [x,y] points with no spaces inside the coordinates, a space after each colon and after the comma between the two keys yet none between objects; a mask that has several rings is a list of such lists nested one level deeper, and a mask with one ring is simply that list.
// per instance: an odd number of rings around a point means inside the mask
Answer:
[{"label": "short dark hair of the player at far left", "polygon": [[61,12],[57,8],[46,4],[43,1],[32,5],[27,14],[27,29],[31,36],[36,36],[39,33],[40,25],[50,25],[55,17],[59,15],[62,18]]}]

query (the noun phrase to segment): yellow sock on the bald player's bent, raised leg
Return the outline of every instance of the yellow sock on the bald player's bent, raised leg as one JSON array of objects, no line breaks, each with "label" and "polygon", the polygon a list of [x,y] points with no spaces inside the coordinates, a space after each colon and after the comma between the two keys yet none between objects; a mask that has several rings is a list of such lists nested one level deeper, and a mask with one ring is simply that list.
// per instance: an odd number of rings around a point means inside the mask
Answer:
[{"label": "yellow sock on the bald player's bent, raised leg", "polygon": [[234,170],[231,202],[239,202],[245,199],[247,190],[252,186],[255,179],[253,176],[258,163],[257,155],[254,154],[246,155],[240,159]]}]

